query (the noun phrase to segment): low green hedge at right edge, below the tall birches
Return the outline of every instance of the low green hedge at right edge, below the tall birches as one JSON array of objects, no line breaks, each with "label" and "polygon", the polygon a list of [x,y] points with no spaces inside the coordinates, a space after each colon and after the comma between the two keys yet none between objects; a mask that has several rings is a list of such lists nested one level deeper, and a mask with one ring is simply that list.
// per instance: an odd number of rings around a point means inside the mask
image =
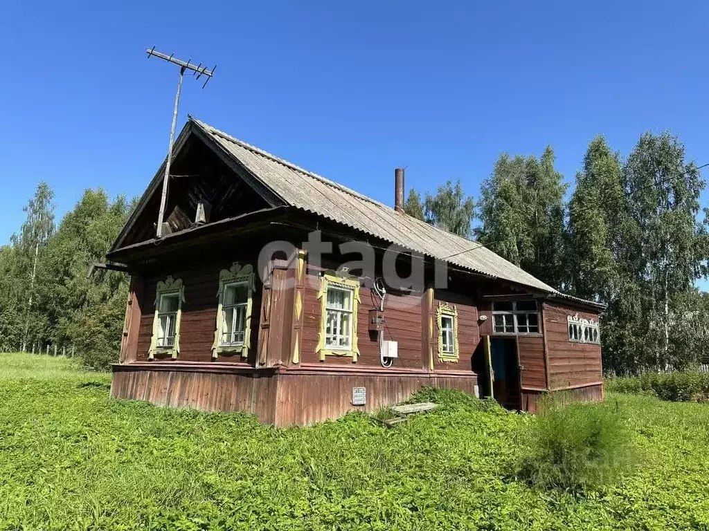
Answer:
[{"label": "low green hedge at right edge, below the tall birches", "polygon": [[608,390],[619,393],[647,393],[669,401],[709,401],[709,374],[702,372],[646,372],[605,380]]}]

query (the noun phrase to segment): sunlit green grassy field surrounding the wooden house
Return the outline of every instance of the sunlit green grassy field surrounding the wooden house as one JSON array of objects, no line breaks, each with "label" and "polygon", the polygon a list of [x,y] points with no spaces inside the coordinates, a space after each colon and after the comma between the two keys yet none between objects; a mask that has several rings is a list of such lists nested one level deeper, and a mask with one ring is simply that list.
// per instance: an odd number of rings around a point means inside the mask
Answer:
[{"label": "sunlit green grassy field surrounding the wooden house", "polygon": [[707,404],[608,396],[644,464],[574,497],[511,476],[535,418],[455,394],[389,430],[359,414],[279,430],[109,384],[0,354],[0,529],[709,529]]}]

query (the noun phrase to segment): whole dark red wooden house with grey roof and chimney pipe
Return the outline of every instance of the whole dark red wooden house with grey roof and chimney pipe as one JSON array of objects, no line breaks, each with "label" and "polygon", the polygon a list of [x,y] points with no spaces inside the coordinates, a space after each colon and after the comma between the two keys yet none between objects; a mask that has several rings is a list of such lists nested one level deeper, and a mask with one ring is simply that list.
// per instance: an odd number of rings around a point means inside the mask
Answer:
[{"label": "whole dark red wooden house with grey roof and chimney pipe", "polygon": [[190,118],[157,238],[163,175],[108,252],[131,279],[116,399],[303,426],[424,385],[603,398],[603,307],[403,213],[403,170],[391,208]]}]

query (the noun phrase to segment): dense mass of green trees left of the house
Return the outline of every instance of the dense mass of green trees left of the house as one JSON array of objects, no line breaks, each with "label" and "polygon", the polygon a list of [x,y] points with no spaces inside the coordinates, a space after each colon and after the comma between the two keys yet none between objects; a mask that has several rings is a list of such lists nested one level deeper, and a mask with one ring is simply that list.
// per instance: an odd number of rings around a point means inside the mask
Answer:
[{"label": "dense mass of green trees left of the house", "polygon": [[25,337],[27,350],[73,345],[84,365],[106,368],[118,360],[128,278],[103,270],[86,278],[86,271],[104,261],[133,205],[86,190],[55,230],[51,199],[40,183],[28,221],[0,249],[0,347],[19,348]]}]

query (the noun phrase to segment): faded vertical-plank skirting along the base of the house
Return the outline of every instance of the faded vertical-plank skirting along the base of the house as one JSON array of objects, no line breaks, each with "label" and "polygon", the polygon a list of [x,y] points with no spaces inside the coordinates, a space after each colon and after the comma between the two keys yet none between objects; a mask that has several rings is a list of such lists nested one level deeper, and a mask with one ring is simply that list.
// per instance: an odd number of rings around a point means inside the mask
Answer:
[{"label": "faded vertical-plank skirting along the base of the house", "polygon": [[[275,426],[309,426],[347,411],[372,413],[408,399],[424,385],[476,393],[467,373],[422,370],[253,369],[230,363],[164,362],[114,365],[111,397],[203,411],[245,411]],[[367,389],[367,404],[352,405],[352,387]]]}]

